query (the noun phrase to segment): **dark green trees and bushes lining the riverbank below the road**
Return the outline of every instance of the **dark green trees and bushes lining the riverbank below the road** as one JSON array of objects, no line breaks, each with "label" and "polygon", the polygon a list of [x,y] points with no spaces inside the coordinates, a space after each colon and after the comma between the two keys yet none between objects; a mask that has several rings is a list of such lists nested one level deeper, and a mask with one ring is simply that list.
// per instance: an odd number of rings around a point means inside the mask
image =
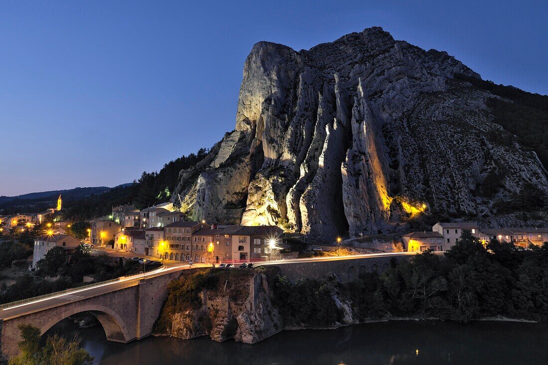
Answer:
[{"label": "dark green trees and bushes lining the riverbank below the road", "polygon": [[[492,241],[484,247],[470,232],[439,257],[430,252],[395,261],[381,275],[357,281],[276,277],[273,299],[284,323],[329,327],[343,322],[346,303],[355,321],[390,317],[468,322],[504,316],[548,321],[548,244],[521,250]],[[331,293],[329,295],[329,293]]]}]

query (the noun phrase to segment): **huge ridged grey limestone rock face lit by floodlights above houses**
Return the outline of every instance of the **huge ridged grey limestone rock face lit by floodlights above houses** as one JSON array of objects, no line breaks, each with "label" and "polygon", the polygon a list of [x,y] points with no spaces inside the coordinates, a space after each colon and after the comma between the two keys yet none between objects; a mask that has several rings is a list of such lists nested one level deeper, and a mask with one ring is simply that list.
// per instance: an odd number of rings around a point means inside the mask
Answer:
[{"label": "huge ridged grey limestone rock face lit by floodlights above houses", "polygon": [[[493,95],[446,52],[379,27],[310,50],[259,42],[249,54],[236,129],[174,194],[196,219],[276,224],[329,241],[390,232],[421,212],[489,216],[476,193],[498,170],[501,196],[527,179],[548,189],[532,152],[492,140]],[[504,166],[504,168],[501,168]]]}]

